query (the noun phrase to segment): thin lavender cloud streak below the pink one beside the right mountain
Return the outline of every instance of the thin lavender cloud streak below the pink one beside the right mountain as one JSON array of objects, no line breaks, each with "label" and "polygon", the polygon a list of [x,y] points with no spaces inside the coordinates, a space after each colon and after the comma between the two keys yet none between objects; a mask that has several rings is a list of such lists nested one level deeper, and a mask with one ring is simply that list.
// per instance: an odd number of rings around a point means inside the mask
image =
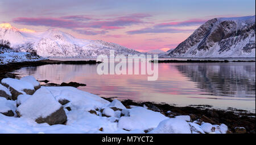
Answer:
[{"label": "thin lavender cloud streak below the pink one beside the right mountain", "polygon": [[180,33],[180,32],[191,32],[194,30],[184,30],[179,28],[142,28],[140,30],[127,31],[127,34],[147,34],[147,33]]}]

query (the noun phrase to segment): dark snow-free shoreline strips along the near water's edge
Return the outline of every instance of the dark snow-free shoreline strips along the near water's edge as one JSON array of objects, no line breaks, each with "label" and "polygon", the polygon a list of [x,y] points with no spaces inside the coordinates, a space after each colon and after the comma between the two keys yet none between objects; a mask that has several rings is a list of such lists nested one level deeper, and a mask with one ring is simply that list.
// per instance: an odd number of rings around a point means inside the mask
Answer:
[{"label": "dark snow-free shoreline strips along the near water's edge", "polygon": [[[16,74],[11,73],[17,69],[23,67],[35,67],[47,64],[97,64],[96,61],[59,61],[59,60],[40,60],[40,61],[28,61],[23,63],[10,63],[6,65],[0,65],[1,73],[0,80],[4,77],[16,77]],[[77,83],[77,82],[75,82]],[[79,85],[79,83],[77,83]],[[77,85],[76,84],[76,85]],[[61,86],[61,84],[46,83],[46,86]],[[67,84],[66,84],[67,85]],[[83,84],[85,85],[85,84]],[[71,84],[72,86],[72,84]],[[114,97],[101,97],[108,101],[113,101]],[[153,111],[159,111],[167,117],[175,117],[176,115],[189,115],[192,121],[209,122],[213,124],[225,123],[229,127],[230,133],[236,133],[235,127],[244,127],[247,134],[255,134],[255,113],[250,113],[246,110],[221,110],[209,108],[206,105],[199,106],[185,106],[177,107],[169,105],[167,103],[154,103],[154,102],[140,102],[132,100],[121,100],[123,105],[127,108],[130,105],[147,107]],[[171,111],[171,112],[170,112]]]}]

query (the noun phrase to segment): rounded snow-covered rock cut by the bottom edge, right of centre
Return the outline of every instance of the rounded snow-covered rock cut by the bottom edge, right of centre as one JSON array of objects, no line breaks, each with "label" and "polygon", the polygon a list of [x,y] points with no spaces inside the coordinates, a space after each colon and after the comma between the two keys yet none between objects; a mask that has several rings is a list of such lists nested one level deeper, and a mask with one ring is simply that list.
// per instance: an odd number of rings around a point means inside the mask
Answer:
[{"label": "rounded snow-covered rock cut by the bottom edge, right of centre", "polygon": [[191,134],[190,127],[183,119],[170,118],[159,123],[151,134]]}]

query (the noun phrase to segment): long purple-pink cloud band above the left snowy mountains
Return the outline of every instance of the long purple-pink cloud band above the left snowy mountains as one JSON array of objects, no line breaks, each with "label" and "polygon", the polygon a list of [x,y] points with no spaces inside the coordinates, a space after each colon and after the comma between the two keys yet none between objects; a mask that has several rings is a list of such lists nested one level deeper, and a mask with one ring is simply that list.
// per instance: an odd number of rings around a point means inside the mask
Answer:
[{"label": "long purple-pink cloud band above the left snowy mountains", "polygon": [[143,19],[149,14],[130,14],[111,19],[94,19],[91,15],[69,15],[60,18],[26,18],[13,19],[14,23],[31,26],[47,26],[58,28],[100,28],[102,30],[115,30],[131,26],[133,24],[148,23]]}]

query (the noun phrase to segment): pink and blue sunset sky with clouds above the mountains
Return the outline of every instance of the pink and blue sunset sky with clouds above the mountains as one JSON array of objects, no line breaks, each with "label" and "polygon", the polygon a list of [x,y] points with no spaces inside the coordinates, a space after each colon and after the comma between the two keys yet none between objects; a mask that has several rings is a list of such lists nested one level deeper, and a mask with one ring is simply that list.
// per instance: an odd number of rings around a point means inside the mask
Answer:
[{"label": "pink and blue sunset sky with clouds above the mountains", "polygon": [[212,18],[255,15],[254,0],[1,0],[0,23],[68,32],[146,52],[175,48]]}]

